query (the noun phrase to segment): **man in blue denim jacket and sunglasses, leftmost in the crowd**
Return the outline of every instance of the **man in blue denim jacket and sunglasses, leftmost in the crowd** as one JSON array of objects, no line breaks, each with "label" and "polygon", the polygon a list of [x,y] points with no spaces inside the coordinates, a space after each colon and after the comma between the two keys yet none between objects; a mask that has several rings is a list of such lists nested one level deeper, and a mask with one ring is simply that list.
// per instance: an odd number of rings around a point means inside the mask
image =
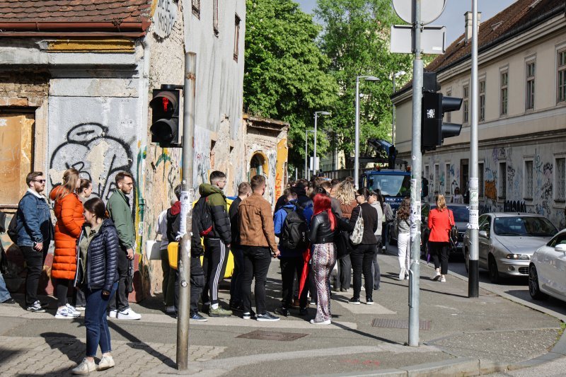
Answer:
[{"label": "man in blue denim jacket and sunglasses, leftmost in the crowd", "polygon": [[40,301],[37,299],[37,286],[47,257],[49,243],[53,238],[54,229],[51,221],[49,205],[41,192],[45,190],[45,178],[40,171],[29,173],[25,178],[28,191],[18,204],[16,212],[17,244],[28,266],[28,276],[25,278],[26,310],[43,313]]}]

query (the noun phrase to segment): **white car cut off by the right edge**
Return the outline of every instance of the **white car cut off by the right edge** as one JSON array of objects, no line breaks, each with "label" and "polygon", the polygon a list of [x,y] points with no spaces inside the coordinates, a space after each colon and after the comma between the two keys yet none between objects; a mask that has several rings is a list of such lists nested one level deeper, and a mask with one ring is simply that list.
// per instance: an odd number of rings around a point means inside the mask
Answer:
[{"label": "white car cut off by the right edge", "polygon": [[529,264],[529,294],[566,301],[566,229],[538,248]]}]

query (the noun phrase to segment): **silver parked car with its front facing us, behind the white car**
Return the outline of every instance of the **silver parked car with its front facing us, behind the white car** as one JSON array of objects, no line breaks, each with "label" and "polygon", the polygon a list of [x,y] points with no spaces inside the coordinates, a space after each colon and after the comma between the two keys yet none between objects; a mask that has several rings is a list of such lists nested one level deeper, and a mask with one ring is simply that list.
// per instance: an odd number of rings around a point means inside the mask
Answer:
[{"label": "silver parked car with its front facing us, behind the white car", "polygon": [[[536,249],[548,243],[558,230],[538,214],[483,214],[478,219],[479,264],[490,272],[497,284],[501,276],[528,276],[529,263]],[[470,260],[470,230],[464,234],[466,271]]]}]

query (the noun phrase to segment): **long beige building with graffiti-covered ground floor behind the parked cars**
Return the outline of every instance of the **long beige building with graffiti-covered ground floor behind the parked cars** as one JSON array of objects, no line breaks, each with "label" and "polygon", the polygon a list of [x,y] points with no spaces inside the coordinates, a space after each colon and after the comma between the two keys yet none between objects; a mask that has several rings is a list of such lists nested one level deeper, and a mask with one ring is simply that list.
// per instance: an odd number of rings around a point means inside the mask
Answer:
[{"label": "long beige building with graffiti-covered ground floor behind the parked cars", "polygon": [[[471,15],[466,33],[427,71],[444,95],[463,98],[445,122],[461,123],[458,137],[422,158],[433,192],[466,190],[470,171]],[[479,28],[478,133],[480,212],[526,209],[564,228],[566,177],[566,17],[560,0],[519,0]],[[410,159],[411,91],[393,95],[397,149]]]}]

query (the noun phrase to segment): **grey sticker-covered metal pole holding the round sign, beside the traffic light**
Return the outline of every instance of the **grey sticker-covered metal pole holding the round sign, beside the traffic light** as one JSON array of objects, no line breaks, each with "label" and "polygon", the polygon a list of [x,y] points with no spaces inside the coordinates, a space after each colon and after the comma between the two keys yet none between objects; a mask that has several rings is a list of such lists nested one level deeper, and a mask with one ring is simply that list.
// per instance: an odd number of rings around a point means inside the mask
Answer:
[{"label": "grey sticker-covered metal pole holding the round sign, beside the traffic light", "polygon": [[415,37],[415,60],[412,66],[412,166],[411,166],[411,267],[409,282],[409,345],[419,345],[419,279],[420,279],[420,192],[422,153],[421,137],[421,102],[423,63],[420,52],[421,0],[413,0],[415,20],[413,35]]}]

